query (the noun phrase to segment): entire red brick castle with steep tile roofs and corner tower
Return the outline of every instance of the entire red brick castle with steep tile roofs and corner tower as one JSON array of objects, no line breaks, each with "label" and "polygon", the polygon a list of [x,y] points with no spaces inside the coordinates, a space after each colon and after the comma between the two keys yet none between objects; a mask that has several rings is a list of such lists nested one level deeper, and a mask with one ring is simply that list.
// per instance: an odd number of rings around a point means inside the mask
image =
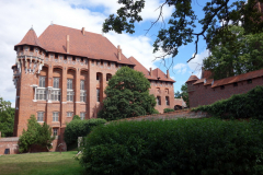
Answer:
[{"label": "entire red brick castle with steep tile roofs and corner tower", "polygon": [[35,115],[55,136],[62,136],[73,115],[96,118],[105,98],[107,81],[122,66],[141,71],[157,97],[156,108],[174,107],[175,82],[160,69],[147,70],[134,57],[126,58],[104,36],[66,26],[49,25],[37,37],[31,28],[14,46],[13,81],[16,88],[14,136],[26,129]]}]

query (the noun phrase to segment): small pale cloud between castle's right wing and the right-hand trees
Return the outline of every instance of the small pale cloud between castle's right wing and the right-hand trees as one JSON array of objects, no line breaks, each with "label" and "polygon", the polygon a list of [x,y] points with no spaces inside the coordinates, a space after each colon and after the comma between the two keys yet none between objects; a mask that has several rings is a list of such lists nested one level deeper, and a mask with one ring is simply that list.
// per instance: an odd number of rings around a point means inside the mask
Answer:
[{"label": "small pale cloud between castle's right wing and the right-hand trees", "polygon": [[203,59],[208,57],[208,54],[209,54],[208,50],[204,50],[203,52],[197,54],[195,58],[187,63],[192,72],[198,78],[201,78],[201,73],[202,73],[201,70],[202,70]]}]

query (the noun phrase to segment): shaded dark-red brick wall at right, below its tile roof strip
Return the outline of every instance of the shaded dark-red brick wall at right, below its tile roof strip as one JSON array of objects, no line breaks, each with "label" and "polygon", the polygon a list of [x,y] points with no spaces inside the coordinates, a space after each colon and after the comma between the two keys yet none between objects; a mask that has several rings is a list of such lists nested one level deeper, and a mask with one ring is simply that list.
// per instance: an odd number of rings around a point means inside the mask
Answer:
[{"label": "shaded dark-red brick wall at right, below its tile roof strip", "polygon": [[194,82],[187,82],[190,107],[209,105],[216,101],[229,98],[233,94],[247,93],[256,85],[263,85],[263,78],[252,79],[251,84],[247,80],[238,82],[238,86],[233,86],[233,83],[226,84],[225,89],[220,86],[210,88],[210,85],[204,85],[204,83],[192,85]]}]

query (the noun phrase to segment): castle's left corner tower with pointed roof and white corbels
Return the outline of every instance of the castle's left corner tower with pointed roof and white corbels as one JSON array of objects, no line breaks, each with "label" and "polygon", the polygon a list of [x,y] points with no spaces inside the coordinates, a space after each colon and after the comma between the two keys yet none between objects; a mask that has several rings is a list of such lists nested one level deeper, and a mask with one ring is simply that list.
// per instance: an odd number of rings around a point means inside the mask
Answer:
[{"label": "castle's left corner tower with pointed roof and white corbels", "polygon": [[[13,69],[13,82],[16,89],[15,97],[15,117],[14,117],[14,136],[22,133],[27,128],[27,119],[35,114],[35,95],[37,88],[37,77],[44,66],[45,50],[42,48],[37,36],[31,28],[24,38],[14,46],[16,51],[15,65]],[[43,83],[46,81],[43,80]],[[45,95],[45,92],[43,92]],[[20,101],[20,100],[23,101]],[[19,117],[20,116],[20,117]]]}]

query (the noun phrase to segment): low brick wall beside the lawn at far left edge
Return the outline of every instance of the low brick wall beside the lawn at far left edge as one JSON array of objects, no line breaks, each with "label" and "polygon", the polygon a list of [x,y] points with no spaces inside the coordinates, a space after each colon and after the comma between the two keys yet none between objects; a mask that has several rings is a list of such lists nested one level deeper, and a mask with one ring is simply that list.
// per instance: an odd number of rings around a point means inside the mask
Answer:
[{"label": "low brick wall beside the lawn at far left edge", "polygon": [[10,154],[19,153],[19,137],[0,138],[0,155],[4,154],[4,150],[9,149]]}]

